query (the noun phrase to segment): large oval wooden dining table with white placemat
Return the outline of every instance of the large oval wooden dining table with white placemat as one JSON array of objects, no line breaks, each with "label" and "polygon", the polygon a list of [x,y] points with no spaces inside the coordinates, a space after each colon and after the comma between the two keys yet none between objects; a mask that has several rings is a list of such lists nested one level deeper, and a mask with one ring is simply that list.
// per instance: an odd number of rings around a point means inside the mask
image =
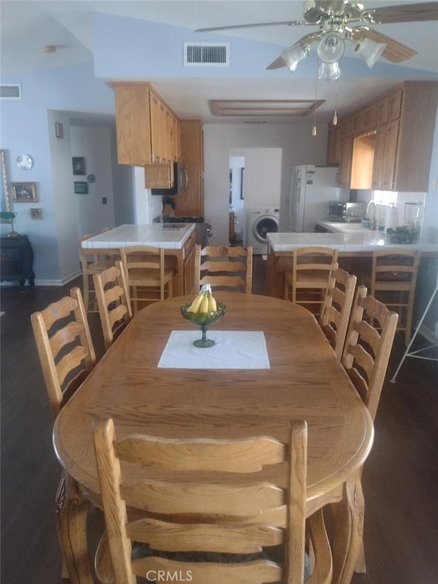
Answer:
[{"label": "large oval wooden dining table with white placemat", "polygon": [[[75,559],[72,581],[92,584],[83,568],[88,502],[100,503],[92,424],[113,418],[118,438],[270,435],[284,442],[289,421],[306,420],[306,514],[333,510],[333,583],[350,583],[363,535],[361,471],[374,440],[368,409],[307,309],[258,294],[215,297],[227,308],[207,329],[213,346],[194,346],[201,330],[181,315],[194,296],[153,303],[133,317],[57,416],[55,453],[78,485],[73,503],[57,502],[70,524],[62,546]],[[286,484],[284,467],[261,474]]]}]

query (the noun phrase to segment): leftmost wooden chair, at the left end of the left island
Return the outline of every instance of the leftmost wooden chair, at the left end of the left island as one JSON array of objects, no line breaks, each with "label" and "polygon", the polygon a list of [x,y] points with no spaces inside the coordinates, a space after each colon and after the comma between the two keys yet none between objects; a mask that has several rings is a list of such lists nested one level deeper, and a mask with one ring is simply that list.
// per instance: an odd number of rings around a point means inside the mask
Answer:
[{"label": "leftmost wooden chair, at the left end of the left island", "polygon": [[99,312],[92,277],[114,266],[116,260],[120,259],[120,252],[118,249],[97,250],[82,247],[82,242],[92,237],[91,233],[87,233],[78,240],[83,279],[83,304],[87,312]]}]

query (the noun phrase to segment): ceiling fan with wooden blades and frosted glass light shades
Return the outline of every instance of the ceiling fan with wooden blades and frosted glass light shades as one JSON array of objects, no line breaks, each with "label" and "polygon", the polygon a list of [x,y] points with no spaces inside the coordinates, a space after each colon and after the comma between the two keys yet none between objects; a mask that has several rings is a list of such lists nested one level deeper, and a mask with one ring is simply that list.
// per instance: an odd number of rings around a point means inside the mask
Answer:
[{"label": "ceiling fan with wooden blades and frosted glass light shades", "polygon": [[[318,42],[318,58],[322,62],[319,76],[322,79],[337,79],[340,75],[338,61],[344,55],[344,40],[355,45],[355,50],[370,68],[380,56],[400,63],[417,54],[406,45],[385,36],[368,25],[388,23],[410,23],[438,20],[438,2],[400,4],[383,8],[364,9],[363,4],[348,0],[306,0],[303,21],[254,23],[197,29],[211,32],[231,29],[270,26],[319,26],[317,31],[303,36],[289,49],[281,51],[280,57],[267,69],[287,66],[295,71],[300,61],[307,57],[313,42]],[[358,23],[351,27],[352,23]]]}]

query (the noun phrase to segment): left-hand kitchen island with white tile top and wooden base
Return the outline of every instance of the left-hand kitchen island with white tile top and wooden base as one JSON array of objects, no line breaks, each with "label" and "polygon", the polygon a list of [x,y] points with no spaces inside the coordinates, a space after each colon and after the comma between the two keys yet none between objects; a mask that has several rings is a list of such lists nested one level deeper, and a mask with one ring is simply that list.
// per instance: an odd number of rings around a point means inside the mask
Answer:
[{"label": "left-hand kitchen island with white tile top and wooden base", "polygon": [[165,250],[166,267],[172,268],[172,294],[194,293],[194,223],[151,223],[120,225],[83,240],[88,249],[120,249],[131,245],[151,245]]}]

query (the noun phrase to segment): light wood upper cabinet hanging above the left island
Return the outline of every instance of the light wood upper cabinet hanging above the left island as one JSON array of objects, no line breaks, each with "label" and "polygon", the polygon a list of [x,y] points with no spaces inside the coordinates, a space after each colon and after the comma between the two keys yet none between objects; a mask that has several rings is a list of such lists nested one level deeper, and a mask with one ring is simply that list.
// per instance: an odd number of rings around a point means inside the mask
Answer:
[{"label": "light wood upper cabinet hanging above the left island", "polygon": [[113,87],[119,164],[166,166],[146,168],[146,186],[171,186],[172,164],[180,158],[177,116],[149,84],[116,82]]}]

